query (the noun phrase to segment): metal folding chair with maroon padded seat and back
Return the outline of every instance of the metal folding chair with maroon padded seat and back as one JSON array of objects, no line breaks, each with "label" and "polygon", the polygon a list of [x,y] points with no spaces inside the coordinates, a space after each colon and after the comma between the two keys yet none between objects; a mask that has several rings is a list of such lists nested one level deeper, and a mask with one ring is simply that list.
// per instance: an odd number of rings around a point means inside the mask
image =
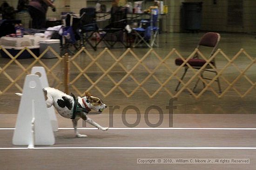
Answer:
[{"label": "metal folding chair with maroon padded seat and back", "polygon": [[[219,41],[220,41],[220,38],[221,38],[221,36],[220,36],[219,33],[216,33],[216,32],[207,32],[207,33],[205,33],[205,34],[202,36],[202,38],[200,39],[200,41],[199,41],[199,43],[198,43],[198,45],[197,45],[196,48],[199,49],[201,46],[212,47],[213,50],[212,50],[212,52],[210,53],[210,56],[209,56],[209,57],[211,57],[211,56],[213,56],[213,54],[214,54],[214,53],[216,52],[216,50],[217,50],[217,45],[218,45],[218,43],[219,43]],[[182,63],[183,63],[183,60],[182,60],[181,58],[176,58],[176,59],[175,59],[175,64],[176,64],[177,66],[182,65]],[[203,66],[205,63],[206,63],[206,61],[205,61],[204,59],[200,59],[199,56],[197,55],[197,53],[196,53],[196,55],[195,55],[193,58],[190,58],[190,59],[188,60],[188,64],[189,64],[193,69],[201,69],[202,66]],[[210,79],[210,78],[207,78],[207,77],[204,77],[204,76],[203,76],[203,72],[204,72],[204,71],[209,71],[209,72],[215,73],[215,74],[217,75],[215,58],[213,58],[213,59],[210,61],[210,63],[214,66],[214,68],[213,68],[210,64],[208,64],[204,69],[202,69],[201,77],[202,77],[203,79],[212,80],[212,79]],[[183,75],[182,75],[181,80],[183,80],[183,78],[184,78],[184,76],[186,75],[188,69],[189,69],[188,65],[185,64],[185,65],[184,65],[184,73],[183,73]],[[193,91],[195,90],[195,88],[196,88],[196,86],[197,86],[199,80],[200,80],[200,79],[198,78],[198,80],[197,80],[197,82],[195,83],[195,86],[194,86],[194,88],[193,88]],[[215,81],[218,83],[219,93],[222,93],[219,78],[217,78]],[[178,90],[180,84],[181,84],[181,82],[178,83],[178,85],[177,85],[175,91]],[[204,84],[204,83],[203,83],[203,86],[205,87],[205,84]]]}]

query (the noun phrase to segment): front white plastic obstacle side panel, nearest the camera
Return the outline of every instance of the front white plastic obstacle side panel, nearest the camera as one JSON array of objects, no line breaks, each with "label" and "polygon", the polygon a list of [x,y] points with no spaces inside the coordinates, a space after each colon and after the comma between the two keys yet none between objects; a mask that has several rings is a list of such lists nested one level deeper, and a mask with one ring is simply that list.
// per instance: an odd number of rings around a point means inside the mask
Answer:
[{"label": "front white plastic obstacle side panel, nearest the camera", "polygon": [[23,86],[13,145],[54,145],[54,133],[38,75],[27,75]]}]

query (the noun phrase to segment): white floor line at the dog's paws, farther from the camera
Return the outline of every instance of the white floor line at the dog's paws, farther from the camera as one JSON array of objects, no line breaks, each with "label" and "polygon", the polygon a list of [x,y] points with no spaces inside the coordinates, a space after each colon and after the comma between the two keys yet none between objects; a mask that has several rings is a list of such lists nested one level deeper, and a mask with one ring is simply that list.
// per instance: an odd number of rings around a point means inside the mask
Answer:
[{"label": "white floor line at the dog's paws, farther from the camera", "polygon": [[[60,127],[59,130],[73,130],[73,127]],[[95,127],[79,127],[79,130],[98,130]],[[15,128],[0,128],[15,130]],[[222,127],[110,127],[108,130],[256,130],[256,128],[222,128]]]}]

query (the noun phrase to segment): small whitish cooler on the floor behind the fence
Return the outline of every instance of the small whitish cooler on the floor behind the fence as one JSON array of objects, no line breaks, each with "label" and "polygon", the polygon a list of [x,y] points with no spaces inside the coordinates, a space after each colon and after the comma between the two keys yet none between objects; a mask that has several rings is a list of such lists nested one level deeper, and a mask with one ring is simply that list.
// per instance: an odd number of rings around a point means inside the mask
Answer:
[{"label": "small whitish cooler on the floor behind the fence", "polygon": [[[59,39],[46,39],[40,41],[40,54],[42,54],[48,46],[52,47],[52,49],[60,55],[60,43]],[[51,50],[48,50],[47,53],[42,58],[56,58],[54,53]]]}]

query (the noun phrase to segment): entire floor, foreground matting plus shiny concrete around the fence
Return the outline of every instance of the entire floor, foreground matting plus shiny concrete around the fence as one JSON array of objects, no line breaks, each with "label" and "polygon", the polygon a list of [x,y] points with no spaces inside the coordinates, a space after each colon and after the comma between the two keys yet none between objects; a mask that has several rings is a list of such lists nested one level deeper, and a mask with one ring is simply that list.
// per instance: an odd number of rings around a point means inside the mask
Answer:
[{"label": "entire floor, foreground matting plus shiny concrete around the fence", "polygon": [[[175,48],[182,55],[187,56],[194,50],[196,43],[203,33],[171,33],[162,34],[160,47],[155,48],[159,55],[165,56],[168,52]],[[250,34],[230,34],[221,33],[222,39],[219,44],[226,55],[233,57],[241,48],[245,49],[252,57],[256,54],[256,38]],[[165,43],[167,38],[168,43]],[[103,50],[99,48],[98,52]],[[147,48],[133,49],[139,56],[145,54]],[[93,50],[90,50],[93,52]],[[115,55],[121,54],[125,49],[115,48],[112,50]],[[96,55],[96,54],[94,54]],[[150,58],[147,62],[154,62]],[[127,59],[129,60],[129,59]],[[7,59],[0,58],[1,67],[7,62]],[[20,60],[23,64],[28,64],[29,60]],[[51,60],[45,60],[51,63]],[[173,62],[173,61],[172,61]],[[222,57],[217,57],[220,67],[225,63]],[[243,69],[248,64],[245,57],[237,60]],[[110,60],[102,61],[104,67],[108,67]],[[255,68],[255,65],[252,67]],[[74,70],[72,70],[74,72]],[[92,70],[95,71],[95,70]],[[97,70],[96,70],[97,71]],[[20,69],[13,65],[13,74],[19,75]],[[56,70],[61,75],[60,70]],[[249,72],[250,78],[256,82],[254,71]],[[230,69],[225,73],[227,79],[232,79],[236,75],[235,69]],[[72,74],[71,74],[72,76]],[[143,75],[142,75],[143,76]],[[166,75],[162,74],[161,77]],[[61,76],[60,76],[61,77]],[[117,77],[118,78],[118,77]],[[54,85],[52,80],[49,80]],[[6,85],[4,77],[1,77],[0,85]],[[19,82],[22,85],[22,81]],[[176,83],[175,83],[176,84]],[[82,89],[84,84],[78,84]],[[102,86],[108,88],[108,82],[103,81]],[[148,89],[154,89],[154,83]],[[225,84],[223,84],[225,86]],[[175,85],[171,85],[170,89]],[[129,90],[129,87],[124,87]],[[239,83],[239,89],[248,88],[247,85]],[[200,89],[200,87],[199,87]],[[13,128],[15,126],[16,114],[20,98],[13,93],[15,88],[10,89],[6,94],[0,96],[0,128]],[[70,90],[72,91],[72,88]],[[96,90],[93,94],[103,98]],[[168,101],[170,96],[163,92],[156,95],[153,99],[142,91],[131,98],[124,97],[120,92],[115,92],[107,98],[103,98],[108,106],[120,106],[120,109],[114,111],[113,126],[127,127],[123,122],[121,113],[123,109],[129,105],[139,108],[141,112],[141,121],[135,127],[150,127],[145,123],[144,112],[152,106],[157,105],[163,111],[163,122],[159,127],[169,127],[168,119]],[[177,108],[173,110],[172,127],[182,128],[256,128],[256,105],[255,105],[255,88],[251,93],[240,98],[234,91],[230,91],[223,98],[218,99],[211,92],[206,92],[199,99],[195,99],[184,91],[174,102]],[[108,107],[109,108],[109,107]],[[102,126],[109,126],[109,112],[107,109],[101,115],[90,116]],[[126,115],[128,123],[133,124],[136,120],[136,114],[129,110]],[[61,118],[57,115],[59,127],[72,127],[71,121]],[[157,123],[159,114],[156,110],[151,110],[148,119],[152,124]],[[79,122],[82,127],[82,122]],[[89,126],[90,127],[90,126]],[[256,130],[109,130],[101,132],[99,130],[81,130],[81,133],[87,134],[87,138],[74,138],[73,130],[59,130],[54,132],[56,144],[53,146],[37,146],[37,147],[100,147],[100,146],[137,146],[137,147],[256,147]],[[13,130],[0,130],[0,148],[15,148],[27,146],[12,145]],[[250,164],[136,164],[137,158],[249,158]],[[16,169],[173,169],[173,170],[253,170],[256,161],[255,149],[41,149],[41,150],[0,150],[0,164],[3,170]]]}]

